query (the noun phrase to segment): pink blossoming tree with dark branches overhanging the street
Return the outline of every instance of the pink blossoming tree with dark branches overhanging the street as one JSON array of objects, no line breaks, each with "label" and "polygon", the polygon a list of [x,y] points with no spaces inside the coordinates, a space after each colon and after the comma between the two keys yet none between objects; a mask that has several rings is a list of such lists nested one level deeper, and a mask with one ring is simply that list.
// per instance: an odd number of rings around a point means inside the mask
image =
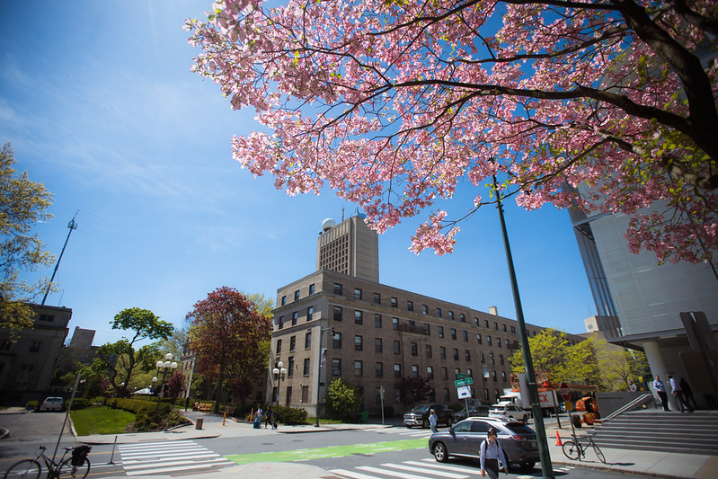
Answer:
[{"label": "pink blossoming tree with dark branches overhanging the street", "polygon": [[257,112],[242,166],[328,185],[380,233],[430,210],[417,253],[452,251],[499,194],[632,215],[629,247],[660,262],[714,259],[714,0],[217,0],[186,28],[193,69]]}]

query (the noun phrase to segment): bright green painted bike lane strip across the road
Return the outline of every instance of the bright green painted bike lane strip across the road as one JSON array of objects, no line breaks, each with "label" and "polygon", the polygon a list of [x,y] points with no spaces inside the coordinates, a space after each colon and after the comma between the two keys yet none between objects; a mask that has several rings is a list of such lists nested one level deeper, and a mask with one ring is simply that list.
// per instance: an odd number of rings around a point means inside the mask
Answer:
[{"label": "bright green painted bike lane strip across the road", "polygon": [[326,448],[294,449],[279,452],[260,452],[254,454],[233,454],[225,456],[238,465],[259,462],[294,462],[331,457],[347,457],[353,454],[376,454],[378,452],[395,452],[408,449],[428,448],[428,440],[403,439],[368,444],[349,444],[346,446],[329,446]]}]

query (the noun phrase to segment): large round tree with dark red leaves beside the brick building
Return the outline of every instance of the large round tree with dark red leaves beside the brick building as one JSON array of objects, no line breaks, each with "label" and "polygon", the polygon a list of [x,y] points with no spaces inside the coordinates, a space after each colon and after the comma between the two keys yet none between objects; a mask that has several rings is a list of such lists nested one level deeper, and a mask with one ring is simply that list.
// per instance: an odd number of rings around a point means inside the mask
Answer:
[{"label": "large round tree with dark red leaves beside the brick building", "polygon": [[196,368],[215,382],[215,412],[219,412],[222,389],[235,394],[259,379],[267,366],[266,343],[271,337],[271,316],[234,288],[217,288],[187,314],[191,322],[190,349],[197,354]]}]

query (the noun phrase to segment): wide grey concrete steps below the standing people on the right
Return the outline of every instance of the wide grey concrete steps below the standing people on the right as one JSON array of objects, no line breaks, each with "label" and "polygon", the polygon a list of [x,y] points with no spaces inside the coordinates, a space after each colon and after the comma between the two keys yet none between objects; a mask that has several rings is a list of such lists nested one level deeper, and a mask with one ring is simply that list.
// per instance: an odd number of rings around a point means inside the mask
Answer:
[{"label": "wide grey concrete steps below the standing people on the right", "polygon": [[625,412],[592,434],[601,448],[718,456],[718,411]]}]

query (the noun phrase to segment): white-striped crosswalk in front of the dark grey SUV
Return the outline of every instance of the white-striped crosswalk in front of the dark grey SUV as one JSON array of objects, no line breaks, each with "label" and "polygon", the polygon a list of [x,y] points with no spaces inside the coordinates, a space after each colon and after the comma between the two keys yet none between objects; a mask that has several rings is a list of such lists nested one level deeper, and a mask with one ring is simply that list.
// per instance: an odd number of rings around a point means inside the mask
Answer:
[{"label": "white-striped crosswalk in front of the dark grey SUV", "polygon": [[[562,469],[568,472],[572,467]],[[441,464],[433,458],[401,463],[384,463],[379,466],[356,466],[352,469],[332,469],[333,475],[347,479],[472,479],[481,477],[478,466]],[[518,475],[517,479],[535,479],[534,475]]]}]

